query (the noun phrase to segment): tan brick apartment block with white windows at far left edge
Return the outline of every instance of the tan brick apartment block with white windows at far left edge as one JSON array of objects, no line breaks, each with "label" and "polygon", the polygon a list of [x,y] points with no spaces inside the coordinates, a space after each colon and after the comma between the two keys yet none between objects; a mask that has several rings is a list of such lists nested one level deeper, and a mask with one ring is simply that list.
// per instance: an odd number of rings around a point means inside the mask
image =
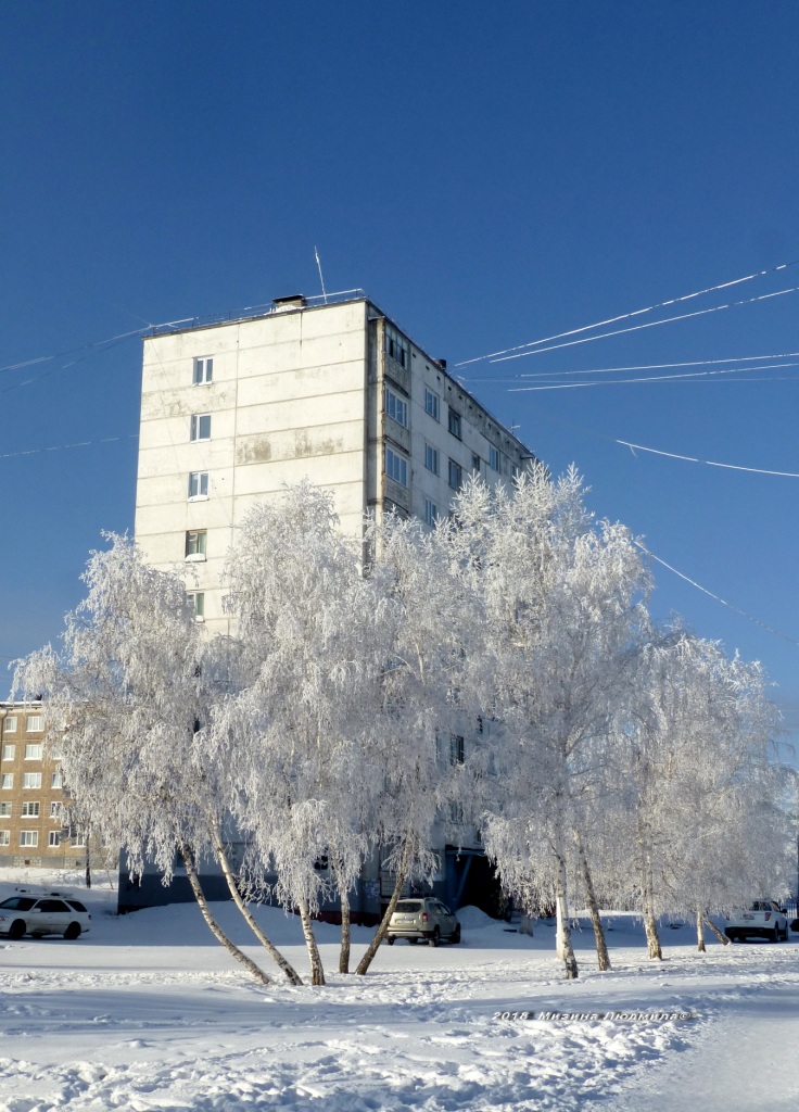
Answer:
[{"label": "tan brick apartment block with white windows at far left edge", "polygon": [[83,837],[64,826],[58,761],[40,703],[0,703],[0,865],[82,867]]}]

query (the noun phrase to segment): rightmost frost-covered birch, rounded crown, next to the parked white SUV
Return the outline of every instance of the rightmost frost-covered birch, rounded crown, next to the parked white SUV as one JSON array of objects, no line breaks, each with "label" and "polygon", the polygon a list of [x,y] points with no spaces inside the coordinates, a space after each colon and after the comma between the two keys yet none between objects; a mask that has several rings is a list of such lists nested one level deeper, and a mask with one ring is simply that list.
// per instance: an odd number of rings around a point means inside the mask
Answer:
[{"label": "rightmost frost-covered birch, rounded crown, next to the parked white SUV", "polygon": [[637,654],[617,773],[625,841],[651,957],[657,919],[695,916],[770,891],[787,863],[772,757],[777,716],[758,664],[681,629],[649,628]]}]

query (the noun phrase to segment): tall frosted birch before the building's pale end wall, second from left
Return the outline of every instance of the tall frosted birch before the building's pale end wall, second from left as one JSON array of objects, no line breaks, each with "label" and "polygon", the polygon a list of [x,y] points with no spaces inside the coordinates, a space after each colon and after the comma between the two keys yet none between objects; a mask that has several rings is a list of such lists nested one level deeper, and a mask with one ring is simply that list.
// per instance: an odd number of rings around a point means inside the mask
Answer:
[{"label": "tall frosted birch before the building's pale end wall, second from left", "polygon": [[362,546],[339,529],[330,495],[301,484],[253,507],[226,569],[240,672],[214,711],[208,759],[227,777],[249,883],[274,874],[278,900],[299,910],[314,984],[324,973],[312,916],[333,887],[348,970],[348,893],[382,781],[371,738],[387,626],[361,565]]}]

